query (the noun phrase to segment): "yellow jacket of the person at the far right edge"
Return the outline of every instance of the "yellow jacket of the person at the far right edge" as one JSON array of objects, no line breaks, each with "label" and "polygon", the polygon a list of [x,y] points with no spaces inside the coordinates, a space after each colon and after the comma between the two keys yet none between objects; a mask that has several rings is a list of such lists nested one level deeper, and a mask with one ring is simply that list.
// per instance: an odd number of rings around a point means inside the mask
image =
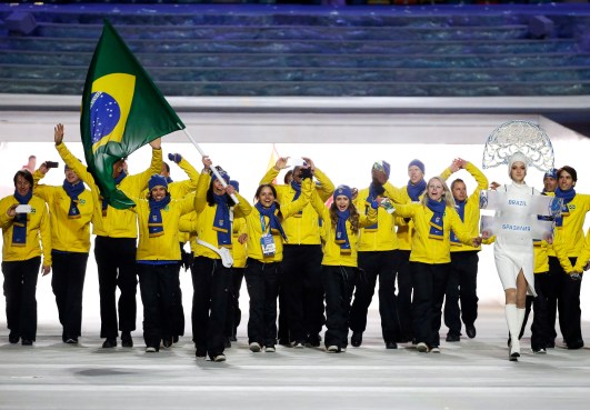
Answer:
[{"label": "yellow jacket of the person at the far right edge", "polygon": [[[580,254],[583,247],[583,222],[586,213],[590,211],[590,196],[576,193],[576,197],[568,203],[569,214],[563,216],[563,224],[556,227],[559,231],[561,242],[568,257],[574,258]],[[549,250],[550,257],[556,257],[553,249]],[[559,256],[557,256],[559,258]]]}]

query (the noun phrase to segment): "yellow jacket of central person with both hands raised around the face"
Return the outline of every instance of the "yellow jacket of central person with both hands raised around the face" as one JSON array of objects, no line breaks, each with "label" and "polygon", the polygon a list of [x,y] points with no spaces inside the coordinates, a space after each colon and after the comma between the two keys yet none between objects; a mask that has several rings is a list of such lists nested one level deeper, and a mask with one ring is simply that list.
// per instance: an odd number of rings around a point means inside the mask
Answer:
[{"label": "yellow jacket of central person with both hands raised around the face", "polygon": [[[260,184],[271,183],[278,174],[279,171],[274,168],[269,169],[264,177],[262,177]],[[319,182],[319,184],[316,184],[316,191],[326,201],[332,196],[334,184],[318,168],[316,168],[314,178]],[[281,207],[292,202],[296,191],[290,184],[274,186],[274,189],[277,190],[277,201]],[[318,218],[318,213],[313,210],[313,207],[307,204],[301,213],[293,214],[292,218],[284,220],[282,228],[289,239],[289,244],[320,244],[321,238]]]}]

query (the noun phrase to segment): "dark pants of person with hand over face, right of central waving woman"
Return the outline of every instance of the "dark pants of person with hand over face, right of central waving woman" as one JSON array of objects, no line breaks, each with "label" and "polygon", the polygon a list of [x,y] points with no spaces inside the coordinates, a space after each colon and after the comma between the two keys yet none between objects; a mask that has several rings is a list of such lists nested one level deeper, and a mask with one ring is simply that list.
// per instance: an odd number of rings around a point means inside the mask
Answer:
[{"label": "dark pants of person with hand over face, right of central waving woman", "polygon": [[367,313],[379,277],[379,313],[381,332],[386,342],[400,339],[400,323],[396,300],[394,251],[359,252],[359,274],[354,288],[354,300],[350,308],[350,330],[363,332],[367,329]]}]

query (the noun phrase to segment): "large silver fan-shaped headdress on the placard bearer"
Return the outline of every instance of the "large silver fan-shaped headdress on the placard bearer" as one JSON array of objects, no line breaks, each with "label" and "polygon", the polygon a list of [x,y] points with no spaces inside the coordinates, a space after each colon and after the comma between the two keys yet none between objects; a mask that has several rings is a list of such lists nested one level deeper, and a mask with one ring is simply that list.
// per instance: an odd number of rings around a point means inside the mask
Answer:
[{"label": "large silver fan-shaped headdress on the placard bearer", "polygon": [[543,172],[553,168],[551,140],[531,121],[509,121],[498,127],[486,141],[483,169],[508,164],[516,152],[527,157],[527,164]]}]

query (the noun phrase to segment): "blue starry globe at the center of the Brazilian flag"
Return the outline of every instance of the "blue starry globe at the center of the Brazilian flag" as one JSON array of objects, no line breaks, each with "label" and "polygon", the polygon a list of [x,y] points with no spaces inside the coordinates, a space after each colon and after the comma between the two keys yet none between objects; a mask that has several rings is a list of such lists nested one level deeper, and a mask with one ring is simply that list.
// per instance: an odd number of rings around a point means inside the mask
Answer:
[{"label": "blue starry globe at the center of the Brazilian flag", "polygon": [[90,100],[90,134],[92,144],[109,136],[121,119],[121,108],[112,96],[93,92]]}]

